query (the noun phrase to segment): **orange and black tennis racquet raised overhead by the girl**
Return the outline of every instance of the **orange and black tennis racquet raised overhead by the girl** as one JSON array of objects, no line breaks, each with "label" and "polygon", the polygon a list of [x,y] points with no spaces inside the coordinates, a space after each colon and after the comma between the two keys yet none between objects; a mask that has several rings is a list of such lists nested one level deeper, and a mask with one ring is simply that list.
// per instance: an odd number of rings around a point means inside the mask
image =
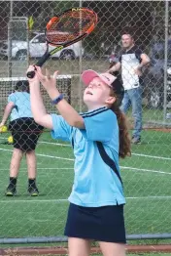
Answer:
[{"label": "orange and black tennis racquet raised overhead by the girl", "polygon": [[[45,31],[47,50],[36,65],[42,66],[56,52],[84,39],[94,29],[97,21],[96,13],[86,8],[72,8],[51,18]],[[49,45],[56,47],[49,51]],[[34,75],[35,71],[27,72],[28,78]]]}]

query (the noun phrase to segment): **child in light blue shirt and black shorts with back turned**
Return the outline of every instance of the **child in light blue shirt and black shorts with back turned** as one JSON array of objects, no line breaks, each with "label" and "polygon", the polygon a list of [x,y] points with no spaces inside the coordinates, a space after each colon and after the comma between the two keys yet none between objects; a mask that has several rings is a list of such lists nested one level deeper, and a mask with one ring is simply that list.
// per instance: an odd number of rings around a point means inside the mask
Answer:
[{"label": "child in light blue shirt and black shorts with back turned", "polygon": [[17,193],[17,175],[24,154],[28,171],[28,192],[31,196],[38,195],[35,149],[43,127],[35,123],[33,119],[28,81],[18,81],[15,91],[9,95],[0,127],[5,125],[9,116],[9,130],[14,138],[14,151],[10,165],[10,183],[6,195],[13,196]]}]

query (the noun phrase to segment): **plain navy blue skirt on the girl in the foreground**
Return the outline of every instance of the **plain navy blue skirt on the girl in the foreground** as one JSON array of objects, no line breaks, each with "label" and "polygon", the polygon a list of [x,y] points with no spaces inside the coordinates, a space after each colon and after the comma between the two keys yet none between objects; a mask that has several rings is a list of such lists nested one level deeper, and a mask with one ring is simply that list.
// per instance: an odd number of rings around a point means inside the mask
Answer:
[{"label": "plain navy blue skirt on the girl in the foreground", "polygon": [[64,235],[125,243],[123,205],[83,207],[70,203]]}]

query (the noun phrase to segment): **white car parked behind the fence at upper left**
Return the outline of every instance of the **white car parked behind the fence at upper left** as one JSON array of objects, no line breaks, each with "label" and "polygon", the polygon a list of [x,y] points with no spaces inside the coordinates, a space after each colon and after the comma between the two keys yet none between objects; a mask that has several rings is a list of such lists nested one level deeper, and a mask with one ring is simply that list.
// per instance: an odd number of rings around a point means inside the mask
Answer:
[{"label": "white car parked behind the fence at upper left", "polygon": [[[54,49],[54,46],[50,46],[49,50]],[[46,38],[44,33],[38,33],[29,41],[29,47],[26,41],[12,40],[12,58],[17,60],[27,59],[27,49],[29,49],[30,58],[40,58],[46,52]],[[0,54],[8,56],[8,42],[4,42],[1,46]],[[81,49],[81,42],[77,42],[68,46],[65,49],[55,53],[52,57],[59,58],[61,60],[74,60],[84,55],[84,49]]]}]

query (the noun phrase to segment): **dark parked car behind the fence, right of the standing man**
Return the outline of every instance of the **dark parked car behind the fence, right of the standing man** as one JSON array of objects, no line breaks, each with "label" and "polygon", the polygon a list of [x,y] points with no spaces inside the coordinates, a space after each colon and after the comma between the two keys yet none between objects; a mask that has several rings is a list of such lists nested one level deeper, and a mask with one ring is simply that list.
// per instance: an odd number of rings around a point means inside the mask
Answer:
[{"label": "dark parked car behind the fence, right of the standing man", "polygon": [[[150,52],[151,65],[145,72],[145,95],[148,107],[163,107],[164,103],[164,43],[155,43]],[[171,101],[171,41],[168,41],[166,102]]]}]

